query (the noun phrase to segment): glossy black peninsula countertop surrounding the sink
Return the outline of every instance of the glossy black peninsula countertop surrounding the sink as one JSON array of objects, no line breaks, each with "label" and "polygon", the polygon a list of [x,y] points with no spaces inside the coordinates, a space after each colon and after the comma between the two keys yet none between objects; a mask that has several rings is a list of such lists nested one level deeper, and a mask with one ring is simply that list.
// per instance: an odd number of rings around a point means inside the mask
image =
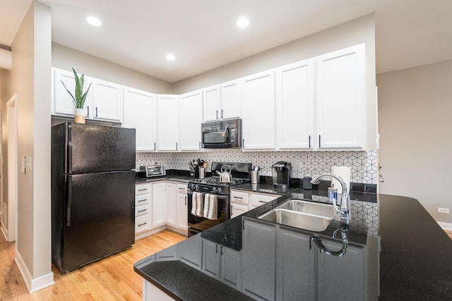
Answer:
[{"label": "glossy black peninsula countertop surrounding the sink", "polygon": [[[310,239],[321,238],[326,247],[339,250],[343,242],[337,231],[343,225],[338,221],[312,232],[257,219],[291,197],[321,201],[325,195],[295,190],[150,254],[135,271],[143,283],[176,300],[452,299],[452,241],[416,199],[353,192],[342,257],[319,252]],[[216,274],[210,269],[215,254]],[[143,300],[147,291],[143,288]]]}]

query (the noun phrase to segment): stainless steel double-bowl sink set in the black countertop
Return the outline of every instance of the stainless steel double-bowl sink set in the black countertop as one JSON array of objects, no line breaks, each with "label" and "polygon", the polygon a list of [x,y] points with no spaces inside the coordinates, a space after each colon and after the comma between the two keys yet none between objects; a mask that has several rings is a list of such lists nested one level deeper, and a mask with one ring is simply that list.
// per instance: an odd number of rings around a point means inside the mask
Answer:
[{"label": "stainless steel double-bowl sink set in the black countertop", "polygon": [[333,220],[334,214],[331,204],[289,199],[261,214],[258,219],[309,231],[324,231]]}]

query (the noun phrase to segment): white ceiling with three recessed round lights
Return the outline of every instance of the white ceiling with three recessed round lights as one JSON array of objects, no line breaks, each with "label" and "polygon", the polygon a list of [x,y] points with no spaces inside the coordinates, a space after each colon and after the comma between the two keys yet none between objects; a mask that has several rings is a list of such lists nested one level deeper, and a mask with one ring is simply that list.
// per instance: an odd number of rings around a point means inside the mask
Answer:
[{"label": "white ceiling with three recessed round lights", "polygon": [[[450,0],[41,1],[52,8],[53,42],[167,82],[374,12],[377,73],[452,59]],[[30,3],[0,0],[0,44],[11,46]],[[241,16],[249,27],[235,25]]]}]

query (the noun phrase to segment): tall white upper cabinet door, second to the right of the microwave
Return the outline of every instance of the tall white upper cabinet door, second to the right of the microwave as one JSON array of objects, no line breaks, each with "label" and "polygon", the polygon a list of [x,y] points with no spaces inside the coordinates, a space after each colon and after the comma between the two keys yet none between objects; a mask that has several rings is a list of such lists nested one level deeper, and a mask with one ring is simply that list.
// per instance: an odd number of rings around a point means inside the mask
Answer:
[{"label": "tall white upper cabinet door, second to the right of the microwave", "polygon": [[314,147],[314,61],[276,69],[276,148]]}]

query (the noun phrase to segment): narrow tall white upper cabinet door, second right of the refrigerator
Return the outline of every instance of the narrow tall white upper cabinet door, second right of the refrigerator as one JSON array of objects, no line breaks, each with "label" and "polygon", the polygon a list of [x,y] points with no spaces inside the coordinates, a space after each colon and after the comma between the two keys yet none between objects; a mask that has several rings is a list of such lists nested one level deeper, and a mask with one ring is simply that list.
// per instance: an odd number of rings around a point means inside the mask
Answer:
[{"label": "narrow tall white upper cabinet door, second right of the refrigerator", "polygon": [[157,150],[177,151],[178,96],[160,94],[157,96]]}]

